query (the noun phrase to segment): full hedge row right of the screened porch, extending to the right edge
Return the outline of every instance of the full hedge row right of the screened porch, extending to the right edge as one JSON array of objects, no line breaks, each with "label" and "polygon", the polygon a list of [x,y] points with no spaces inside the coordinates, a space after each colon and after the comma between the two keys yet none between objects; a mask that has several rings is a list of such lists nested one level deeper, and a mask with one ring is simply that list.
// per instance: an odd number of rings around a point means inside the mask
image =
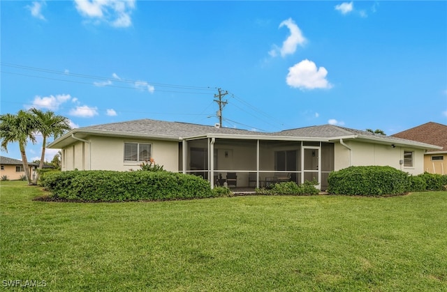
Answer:
[{"label": "full hedge row right of the screened porch, extending to the right edge", "polygon": [[447,176],[428,173],[411,176],[394,167],[348,167],[332,171],[328,185],[331,194],[383,196],[446,190]]}]

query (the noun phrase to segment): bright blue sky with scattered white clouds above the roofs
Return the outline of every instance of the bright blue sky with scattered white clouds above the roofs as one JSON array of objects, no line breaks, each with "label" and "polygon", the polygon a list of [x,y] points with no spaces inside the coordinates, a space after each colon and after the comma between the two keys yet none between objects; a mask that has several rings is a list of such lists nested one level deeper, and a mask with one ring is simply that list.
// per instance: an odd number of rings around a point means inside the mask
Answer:
[{"label": "bright blue sky with scattered white clouds above the roofs", "polygon": [[[447,123],[447,1],[1,1],[1,114],[387,135]],[[39,140],[40,142],[40,140]],[[40,157],[29,144],[29,160]],[[18,147],[1,155],[20,159]],[[51,160],[54,151],[49,151]]]}]

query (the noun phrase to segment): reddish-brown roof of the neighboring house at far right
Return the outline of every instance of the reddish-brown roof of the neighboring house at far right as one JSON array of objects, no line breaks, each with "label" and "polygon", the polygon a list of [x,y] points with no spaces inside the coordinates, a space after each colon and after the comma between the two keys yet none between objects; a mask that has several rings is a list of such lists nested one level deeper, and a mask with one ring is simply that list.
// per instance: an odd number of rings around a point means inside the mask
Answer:
[{"label": "reddish-brown roof of the neighboring house at far right", "polygon": [[447,151],[447,125],[440,123],[428,122],[391,136],[442,146],[437,151]]}]

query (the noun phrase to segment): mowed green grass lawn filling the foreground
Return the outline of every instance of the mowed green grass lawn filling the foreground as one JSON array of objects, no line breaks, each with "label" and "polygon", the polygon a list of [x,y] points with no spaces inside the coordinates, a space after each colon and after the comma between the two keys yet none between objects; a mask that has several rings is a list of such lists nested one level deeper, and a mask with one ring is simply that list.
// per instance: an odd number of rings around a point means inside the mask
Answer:
[{"label": "mowed green grass lawn filling the foreground", "polygon": [[42,192],[0,183],[1,286],[18,279],[44,281],[45,291],[447,291],[447,192],[32,201]]}]

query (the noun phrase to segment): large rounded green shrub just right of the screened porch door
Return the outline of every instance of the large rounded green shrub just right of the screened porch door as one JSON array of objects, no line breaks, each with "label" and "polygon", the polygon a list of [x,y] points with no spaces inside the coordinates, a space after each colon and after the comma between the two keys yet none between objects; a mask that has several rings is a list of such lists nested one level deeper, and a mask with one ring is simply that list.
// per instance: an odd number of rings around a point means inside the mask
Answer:
[{"label": "large rounded green shrub just right of the screened porch door", "polygon": [[348,167],[332,171],[328,177],[331,194],[383,196],[405,194],[410,190],[406,172],[394,167]]}]

